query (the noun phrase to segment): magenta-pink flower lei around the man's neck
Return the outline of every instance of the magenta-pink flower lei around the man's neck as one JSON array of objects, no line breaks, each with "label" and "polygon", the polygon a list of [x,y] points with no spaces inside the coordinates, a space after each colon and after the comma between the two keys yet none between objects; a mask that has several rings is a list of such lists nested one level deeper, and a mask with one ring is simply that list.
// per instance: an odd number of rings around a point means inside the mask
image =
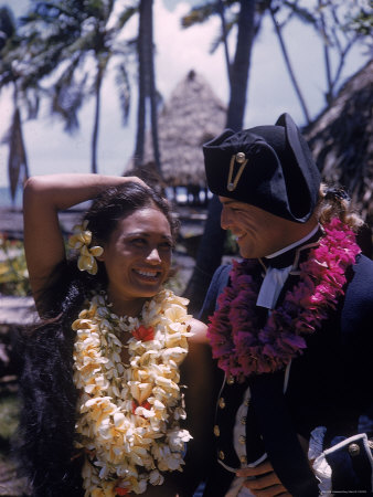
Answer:
[{"label": "magenta-pink flower lei around the man's neck", "polygon": [[323,230],[318,247],[299,265],[299,283],[262,329],[255,311],[262,266],[254,260],[233,262],[231,285],[219,296],[207,330],[213,357],[227,377],[243,382],[251,374],[283,369],[307,348],[303,336],[313,334],[337,308],[345,269],[361,251],[353,231],[339,219]]}]

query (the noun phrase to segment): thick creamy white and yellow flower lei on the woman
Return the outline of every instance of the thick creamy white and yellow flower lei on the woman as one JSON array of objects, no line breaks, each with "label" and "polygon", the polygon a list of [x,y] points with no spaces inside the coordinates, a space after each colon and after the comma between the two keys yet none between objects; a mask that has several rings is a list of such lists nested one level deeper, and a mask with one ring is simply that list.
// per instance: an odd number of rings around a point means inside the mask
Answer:
[{"label": "thick creamy white and yellow flower lei on the woman", "polygon": [[[86,453],[86,497],[142,494],[148,483],[163,483],[160,472],[182,470],[191,438],[179,425],[186,417],[179,364],[192,335],[186,304],[163,289],[145,304],[139,320],[119,318],[104,294],[94,294],[73,322],[76,446]],[[118,338],[124,332],[142,340],[130,335],[124,346]],[[122,347],[129,349],[129,366],[121,362]]]}]

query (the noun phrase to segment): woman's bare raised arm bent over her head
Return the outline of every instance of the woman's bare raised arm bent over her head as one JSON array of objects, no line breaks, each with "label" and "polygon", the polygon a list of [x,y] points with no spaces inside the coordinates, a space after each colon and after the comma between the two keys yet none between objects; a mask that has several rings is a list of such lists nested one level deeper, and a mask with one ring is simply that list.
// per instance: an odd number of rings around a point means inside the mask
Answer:
[{"label": "woman's bare raised arm bent over her head", "polygon": [[65,258],[58,211],[93,199],[102,189],[128,181],[142,183],[136,177],[103,175],[49,175],[26,181],[23,194],[24,248],[35,300],[55,266]]}]

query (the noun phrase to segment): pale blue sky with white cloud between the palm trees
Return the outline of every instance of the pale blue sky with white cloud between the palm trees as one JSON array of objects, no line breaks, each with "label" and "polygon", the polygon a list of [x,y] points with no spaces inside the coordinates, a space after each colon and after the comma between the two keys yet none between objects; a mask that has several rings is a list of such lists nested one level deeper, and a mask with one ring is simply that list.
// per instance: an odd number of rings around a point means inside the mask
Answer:
[{"label": "pale blue sky with white cloud between the palm trees", "polygon": [[[224,54],[222,49],[211,55],[210,46],[220,30],[217,17],[207,23],[182,30],[180,19],[196,0],[154,0],[154,42],[157,86],[164,102],[190,70],[201,74],[224,104],[228,102]],[[15,15],[24,12],[28,0],[0,0],[0,7],[11,7]],[[128,28],[136,33],[134,20]],[[311,117],[323,107],[324,76],[320,41],[311,28],[292,21],[285,31],[288,50],[309,106]],[[231,40],[231,49],[235,39]],[[233,53],[233,52],[231,52]],[[362,49],[351,54],[345,75],[359,70],[366,56]],[[135,89],[135,83],[132,85]],[[98,171],[121,175],[135,147],[136,91],[132,91],[131,114],[126,127],[121,125],[118,101],[113,80],[103,87],[102,123],[98,144]],[[12,112],[11,95],[0,94],[0,140]],[[24,123],[24,140],[31,175],[52,172],[89,172],[90,136],[94,101],[79,114],[81,128],[75,136],[64,133],[63,124],[42,108],[38,120]],[[305,124],[301,108],[287,75],[283,55],[269,18],[265,18],[253,50],[244,128],[275,124],[277,117],[288,112],[299,126]],[[0,187],[8,184],[8,148],[0,145]]]}]

